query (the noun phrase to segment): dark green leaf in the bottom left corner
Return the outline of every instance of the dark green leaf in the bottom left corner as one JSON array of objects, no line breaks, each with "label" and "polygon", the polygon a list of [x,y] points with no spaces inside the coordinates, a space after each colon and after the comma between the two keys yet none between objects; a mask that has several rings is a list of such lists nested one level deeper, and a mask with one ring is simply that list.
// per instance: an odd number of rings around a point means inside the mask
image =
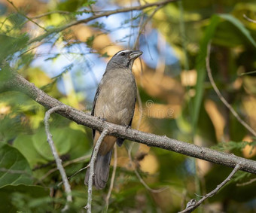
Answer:
[{"label": "dark green leaf in the bottom left corner", "polygon": [[[24,200],[21,199],[18,194],[23,197],[29,197],[28,202],[24,203]],[[32,210],[34,210],[34,212],[46,212],[46,206],[50,204],[49,190],[44,187],[32,185],[6,185],[0,189],[0,197],[0,212],[32,212]],[[41,199],[41,201],[44,199],[44,202],[37,202],[38,205],[41,204],[41,208],[36,209],[36,207],[39,206],[32,206],[32,204],[35,204],[35,200],[38,201],[39,199]],[[20,205],[23,209],[17,208],[17,206],[20,207]],[[34,209],[32,207],[34,207]]]}]

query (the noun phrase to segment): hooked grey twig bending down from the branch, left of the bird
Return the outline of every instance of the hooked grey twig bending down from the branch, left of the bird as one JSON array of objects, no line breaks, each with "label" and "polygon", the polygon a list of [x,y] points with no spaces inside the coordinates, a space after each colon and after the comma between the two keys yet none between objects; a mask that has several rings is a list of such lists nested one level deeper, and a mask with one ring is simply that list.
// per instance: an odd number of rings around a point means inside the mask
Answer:
[{"label": "hooked grey twig bending down from the branch, left of the bird", "polygon": [[60,175],[62,177],[62,181],[64,183],[64,187],[65,187],[65,192],[66,192],[66,199],[67,199],[67,203],[65,205],[65,207],[62,209],[62,211],[65,211],[67,208],[69,208],[69,202],[72,202],[72,191],[71,191],[71,187],[69,185],[69,181],[65,172],[65,169],[62,166],[62,160],[59,158],[59,155],[57,154],[56,151],[56,147],[53,143],[53,136],[50,134],[50,127],[49,127],[49,123],[48,120],[50,118],[50,114],[52,114],[53,112],[56,111],[67,111],[68,107],[65,106],[56,106],[53,108],[50,108],[46,113],[45,113],[45,117],[44,117],[44,126],[45,126],[45,132],[47,135],[47,141],[50,145],[50,149],[53,153],[53,157],[56,161],[56,165],[57,168],[59,169]]}]

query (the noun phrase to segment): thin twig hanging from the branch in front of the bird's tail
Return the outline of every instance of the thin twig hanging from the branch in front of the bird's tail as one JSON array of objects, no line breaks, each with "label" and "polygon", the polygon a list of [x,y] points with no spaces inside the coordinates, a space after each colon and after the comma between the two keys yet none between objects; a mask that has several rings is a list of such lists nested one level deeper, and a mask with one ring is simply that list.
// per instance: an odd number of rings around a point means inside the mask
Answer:
[{"label": "thin twig hanging from the branch in front of the bird's tail", "polygon": [[98,141],[96,142],[96,145],[93,150],[92,157],[90,159],[90,175],[89,175],[89,181],[88,181],[88,198],[87,198],[87,205],[85,208],[87,208],[87,212],[92,212],[92,200],[93,200],[93,176],[94,176],[94,164],[96,162],[97,154],[99,151],[99,147],[102,144],[103,139],[106,135],[108,135],[108,129],[104,129],[102,133],[99,136]]}]

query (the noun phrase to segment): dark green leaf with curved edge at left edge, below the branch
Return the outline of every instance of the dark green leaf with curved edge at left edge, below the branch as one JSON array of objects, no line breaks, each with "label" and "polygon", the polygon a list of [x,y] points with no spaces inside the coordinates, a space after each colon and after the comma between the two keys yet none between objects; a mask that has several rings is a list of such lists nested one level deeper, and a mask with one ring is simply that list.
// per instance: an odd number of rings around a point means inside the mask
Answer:
[{"label": "dark green leaf with curved edge at left edge, below the branch", "polygon": [[32,170],[26,158],[10,145],[0,145],[0,187],[32,184]]}]

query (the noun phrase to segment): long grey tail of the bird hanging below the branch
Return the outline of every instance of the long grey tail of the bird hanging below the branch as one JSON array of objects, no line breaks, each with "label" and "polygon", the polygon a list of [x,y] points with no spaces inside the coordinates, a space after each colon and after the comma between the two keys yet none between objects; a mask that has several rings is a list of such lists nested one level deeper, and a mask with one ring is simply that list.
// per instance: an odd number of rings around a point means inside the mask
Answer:
[{"label": "long grey tail of the bird hanging below the branch", "polygon": [[[95,185],[95,187],[99,190],[105,188],[105,185],[107,184],[111,155],[112,149],[105,155],[101,155],[100,153],[97,154],[96,162],[94,164],[93,185]],[[87,173],[84,178],[84,184],[88,185],[89,176],[90,168],[87,169]]]}]

